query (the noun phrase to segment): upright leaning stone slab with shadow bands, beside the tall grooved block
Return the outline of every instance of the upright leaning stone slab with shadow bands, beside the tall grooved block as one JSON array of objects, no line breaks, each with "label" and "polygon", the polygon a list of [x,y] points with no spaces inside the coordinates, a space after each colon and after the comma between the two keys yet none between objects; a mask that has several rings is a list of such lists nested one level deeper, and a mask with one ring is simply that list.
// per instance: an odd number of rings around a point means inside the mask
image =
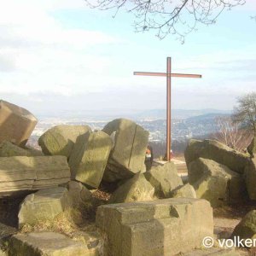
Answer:
[{"label": "upright leaning stone slab with shadow bands, beside the tall grooved block", "polygon": [[68,161],[72,178],[97,188],[102,181],[112,144],[111,138],[103,131],[79,136]]}]

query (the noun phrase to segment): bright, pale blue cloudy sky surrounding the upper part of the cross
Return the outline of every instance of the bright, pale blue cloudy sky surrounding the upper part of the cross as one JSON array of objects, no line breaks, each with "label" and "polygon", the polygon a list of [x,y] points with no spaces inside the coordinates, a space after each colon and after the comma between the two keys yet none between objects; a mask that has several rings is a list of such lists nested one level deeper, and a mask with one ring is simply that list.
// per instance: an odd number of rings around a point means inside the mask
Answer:
[{"label": "bright, pale blue cloudy sky surrounding the upper part of the cross", "polygon": [[166,79],[134,71],[199,73],[172,79],[172,108],[232,109],[256,90],[256,1],[224,11],[181,44],[134,32],[134,16],[84,0],[9,0],[0,9],[0,95],[32,113],[166,108]]}]

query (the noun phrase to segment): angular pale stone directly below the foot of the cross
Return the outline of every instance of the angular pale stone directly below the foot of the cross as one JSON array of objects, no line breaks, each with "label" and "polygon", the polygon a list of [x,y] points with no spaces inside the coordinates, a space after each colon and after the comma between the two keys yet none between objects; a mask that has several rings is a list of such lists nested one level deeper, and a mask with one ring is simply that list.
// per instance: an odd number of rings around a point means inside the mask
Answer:
[{"label": "angular pale stone directly below the foot of the cross", "polygon": [[183,185],[181,177],[177,175],[177,168],[172,162],[163,166],[154,166],[144,175],[154,187],[155,194],[160,197],[172,197],[172,190]]}]

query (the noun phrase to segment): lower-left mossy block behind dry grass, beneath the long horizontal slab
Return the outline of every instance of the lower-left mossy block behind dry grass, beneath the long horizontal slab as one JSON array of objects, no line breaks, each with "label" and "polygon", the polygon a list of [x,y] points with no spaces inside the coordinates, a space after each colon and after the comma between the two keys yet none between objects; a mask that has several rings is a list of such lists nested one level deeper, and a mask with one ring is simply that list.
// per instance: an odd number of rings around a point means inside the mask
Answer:
[{"label": "lower-left mossy block behind dry grass, beneath the long horizontal slab", "polygon": [[20,204],[19,226],[52,220],[70,206],[71,198],[67,189],[62,187],[41,189],[35,194],[27,195]]}]

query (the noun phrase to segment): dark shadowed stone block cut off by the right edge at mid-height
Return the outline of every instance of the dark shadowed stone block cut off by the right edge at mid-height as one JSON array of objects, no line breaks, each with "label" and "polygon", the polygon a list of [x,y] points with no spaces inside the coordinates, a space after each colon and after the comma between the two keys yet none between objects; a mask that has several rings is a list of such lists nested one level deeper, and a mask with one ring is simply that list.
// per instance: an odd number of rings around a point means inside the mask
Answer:
[{"label": "dark shadowed stone block cut off by the right edge at mid-height", "polygon": [[248,195],[251,200],[256,200],[256,156],[248,162],[244,174]]}]

